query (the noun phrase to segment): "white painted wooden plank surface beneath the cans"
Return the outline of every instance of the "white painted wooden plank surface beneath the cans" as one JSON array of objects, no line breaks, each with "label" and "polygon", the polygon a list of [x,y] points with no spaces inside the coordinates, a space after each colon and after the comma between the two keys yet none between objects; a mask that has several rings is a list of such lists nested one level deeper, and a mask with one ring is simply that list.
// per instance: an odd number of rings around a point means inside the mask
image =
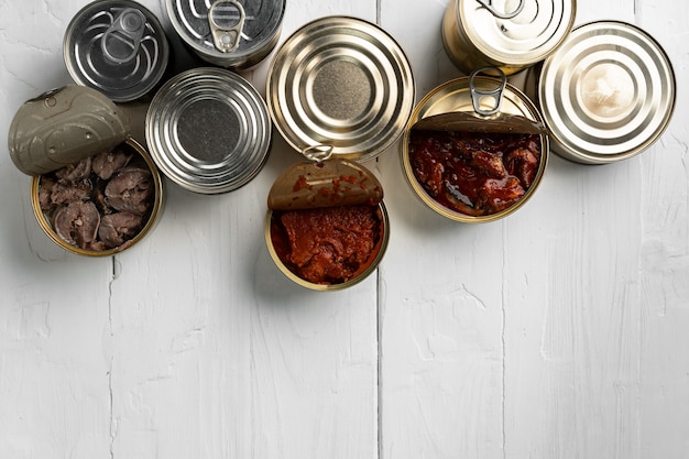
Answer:
[{"label": "white painted wooden plank surface beneath the cans", "polygon": [[[86,0],[0,0],[0,131],[69,83],[62,37]],[[163,22],[163,0],[144,0]],[[420,98],[459,75],[447,0],[287,0],[308,20],[375,21]],[[670,55],[677,110],[621,164],[553,157],[499,222],[424,207],[397,146],[369,164],[392,220],[378,273],[339,293],[284,277],[265,197],[298,160],[274,142],[245,187],[167,185],[158,226],[111,259],[40,230],[0,155],[0,458],[681,459],[689,457],[689,7],[579,0],[577,22],[641,25]],[[264,91],[267,62],[245,73]]]}]

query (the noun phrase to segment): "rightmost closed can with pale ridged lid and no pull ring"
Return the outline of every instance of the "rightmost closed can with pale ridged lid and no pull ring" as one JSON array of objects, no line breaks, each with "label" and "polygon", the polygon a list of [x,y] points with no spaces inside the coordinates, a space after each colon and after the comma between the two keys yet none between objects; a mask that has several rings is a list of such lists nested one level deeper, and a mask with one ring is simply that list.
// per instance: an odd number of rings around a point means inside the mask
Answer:
[{"label": "rightmost closed can with pale ridged lid and no pull ring", "polygon": [[670,120],[675,91],[661,47],[621,22],[577,28],[546,59],[539,81],[556,152],[586,163],[623,160],[649,146]]}]

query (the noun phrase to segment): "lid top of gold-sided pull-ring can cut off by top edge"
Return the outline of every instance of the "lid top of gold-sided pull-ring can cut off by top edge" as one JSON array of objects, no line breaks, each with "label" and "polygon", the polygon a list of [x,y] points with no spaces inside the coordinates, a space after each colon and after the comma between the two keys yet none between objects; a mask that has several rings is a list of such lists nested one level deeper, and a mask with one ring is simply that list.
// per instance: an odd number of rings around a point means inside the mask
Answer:
[{"label": "lid top of gold-sided pull-ring can cut off by top edge", "polygon": [[457,23],[485,56],[511,65],[543,61],[570,32],[576,0],[453,0]]}]

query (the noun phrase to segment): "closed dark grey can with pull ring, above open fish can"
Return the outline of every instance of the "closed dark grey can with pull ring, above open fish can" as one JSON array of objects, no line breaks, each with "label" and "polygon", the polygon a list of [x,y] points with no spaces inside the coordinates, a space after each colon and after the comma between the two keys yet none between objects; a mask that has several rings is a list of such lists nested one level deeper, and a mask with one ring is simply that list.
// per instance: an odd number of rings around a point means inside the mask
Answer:
[{"label": "closed dark grey can with pull ring, above open fish can", "polygon": [[83,8],[67,26],[63,52],[76,84],[98,89],[116,102],[151,92],[169,57],[157,18],[131,0],[101,0]]}]

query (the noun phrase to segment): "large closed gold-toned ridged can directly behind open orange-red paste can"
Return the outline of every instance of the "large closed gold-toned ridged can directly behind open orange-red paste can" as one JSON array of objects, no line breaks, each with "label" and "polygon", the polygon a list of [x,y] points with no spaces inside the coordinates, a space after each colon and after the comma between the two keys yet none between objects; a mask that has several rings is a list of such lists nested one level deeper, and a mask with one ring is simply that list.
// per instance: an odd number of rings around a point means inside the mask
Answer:
[{"label": "large closed gold-toned ridged can directly behind open orange-red paste can", "polygon": [[400,45],[363,20],[329,17],[282,45],[269,70],[267,103],[295,150],[374,157],[404,132],[414,108],[412,67]]}]

